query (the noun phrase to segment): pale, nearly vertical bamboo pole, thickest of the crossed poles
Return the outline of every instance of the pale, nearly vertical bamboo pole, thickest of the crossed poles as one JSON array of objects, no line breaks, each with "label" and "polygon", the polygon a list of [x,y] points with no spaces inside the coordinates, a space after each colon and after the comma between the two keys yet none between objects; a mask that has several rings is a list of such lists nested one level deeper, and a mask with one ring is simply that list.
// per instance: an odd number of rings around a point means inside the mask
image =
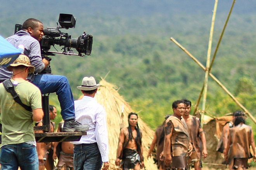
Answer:
[{"label": "pale, nearly vertical bamboo pole, thickest of the crossed poles", "polygon": [[[206,59],[206,70],[204,75],[204,87],[203,90],[203,98],[202,98],[202,115],[201,120],[203,122],[204,120],[204,110],[205,110],[205,104],[206,104],[206,96],[207,96],[207,87],[208,87],[208,75],[209,75],[209,65],[210,65],[210,56],[211,56],[211,45],[213,42],[213,28],[214,28],[214,22],[216,17],[216,10],[217,10],[218,0],[215,0],[214,8],[213,8],[213,17],[211,19],[211,29],[210,29],[210,35],[209,35],[209,42],[208,42],[208,51],[207,51],[207,59]],[[199,95],[200,96],[200,95]],[[203,127],[203,123],[201,123],[201,126]]]}]

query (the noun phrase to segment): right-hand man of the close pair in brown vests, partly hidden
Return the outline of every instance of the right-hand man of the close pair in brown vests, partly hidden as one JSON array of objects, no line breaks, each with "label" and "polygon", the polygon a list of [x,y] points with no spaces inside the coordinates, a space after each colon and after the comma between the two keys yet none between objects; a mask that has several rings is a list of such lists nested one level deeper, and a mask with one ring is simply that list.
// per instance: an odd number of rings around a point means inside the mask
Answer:
[{"label": "right-hand man of the close pair in brown vests, partly hidden", "polygon": [[187,99],[183,99],[183,101],[185,104],[185,111],[182,118],[187,124],[189,130],[189,138],[192,141],[193,145],[193,150],[189,154],[188,164],[190,165],[191,163],[193,163],[195,170],[201,170],[201,157],[207,157],[206,139],[204,131],[201,127],[201,122],[199,118],[189,114],[191,109],[191,102]]}]

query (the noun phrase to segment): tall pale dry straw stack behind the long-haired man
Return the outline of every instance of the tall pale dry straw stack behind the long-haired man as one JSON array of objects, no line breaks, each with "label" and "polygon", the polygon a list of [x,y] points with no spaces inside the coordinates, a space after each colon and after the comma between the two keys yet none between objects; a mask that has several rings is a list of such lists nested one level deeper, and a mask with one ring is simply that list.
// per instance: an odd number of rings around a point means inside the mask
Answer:
[{"label": "tall pale dry straw stack behind the long-haired man", "polygon": [[[116,152],[118,148],[118,137],[121,127],[128,126],[128,114],[133,112],[130,105],[123,99],[117,92],[117,87],[111,83],[102,79],[100,81],[100,87],[95,96],[95,100],[103,105],[107,114],[107,130],[109,137],[109,162],[111,170],[116,170],[118,167],[115,165]],[[122,119],[122,107],[123,107],[123,119]],[[147,160],[147,153],[149,146],[154,136],[152,131],[143,121],[138,118],[139,128],[142,130],[142,145],[144,164],[147,170],[156,170],[157,167],[154,164],[152,158]]]}]

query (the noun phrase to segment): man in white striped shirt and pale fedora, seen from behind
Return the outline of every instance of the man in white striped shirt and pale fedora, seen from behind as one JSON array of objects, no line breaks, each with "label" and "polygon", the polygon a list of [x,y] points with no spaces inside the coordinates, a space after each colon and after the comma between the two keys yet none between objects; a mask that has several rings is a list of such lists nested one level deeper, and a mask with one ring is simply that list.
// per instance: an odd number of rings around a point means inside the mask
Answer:
[{"label": "man in white striped shirt and pale fedora, seen from behind", "polygon": [[84,96],[74,102],[76,120],[89,129],[80,141],[71,142],[74,144],[74,170],[100,170],[102,162],[102,170],[109,168],[106,112],[93,99],[99,86],[93,77],[84,77],[82,85],[77,87]]}]

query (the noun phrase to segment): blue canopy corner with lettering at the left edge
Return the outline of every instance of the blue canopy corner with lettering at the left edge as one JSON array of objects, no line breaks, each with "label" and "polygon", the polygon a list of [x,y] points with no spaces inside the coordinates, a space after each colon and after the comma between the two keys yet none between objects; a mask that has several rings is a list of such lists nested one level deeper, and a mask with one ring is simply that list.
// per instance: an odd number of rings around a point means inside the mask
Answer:
[{"label": "blue canopy corner with lettering at the left edge", "polygon": [[21,51],[0,36],[0,66],[9,66],[18,58],[19,54],[21,54]]}]

